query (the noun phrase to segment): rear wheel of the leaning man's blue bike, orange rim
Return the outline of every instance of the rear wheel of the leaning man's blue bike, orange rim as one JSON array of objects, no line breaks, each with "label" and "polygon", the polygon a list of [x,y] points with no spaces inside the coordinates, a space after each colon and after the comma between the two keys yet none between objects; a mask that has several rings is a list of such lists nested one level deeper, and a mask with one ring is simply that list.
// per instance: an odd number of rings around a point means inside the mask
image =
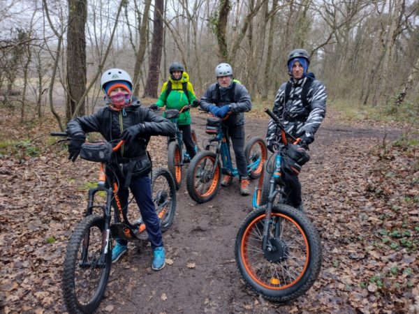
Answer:
[{"label": "rear wheel of the leaning man's blue bike, orange rim", "polygon": [[251,179],[256,179],[262,174],[263,163],[267,159],[267,148],[262,137],[252,137],[244,148],[246,156],[247,173]]}]

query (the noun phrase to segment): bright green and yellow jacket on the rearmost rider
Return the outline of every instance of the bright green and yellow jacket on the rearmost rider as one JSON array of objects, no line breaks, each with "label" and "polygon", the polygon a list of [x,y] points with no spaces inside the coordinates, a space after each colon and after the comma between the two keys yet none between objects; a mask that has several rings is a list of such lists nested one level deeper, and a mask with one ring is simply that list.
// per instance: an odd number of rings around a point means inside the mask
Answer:
[{"label": "bright green and yellow jacket on the rearmost rider", "polygon": [[[182,78],[178,81],[172,80],[169,77],[170,82],[172,82],[172,90],[170,94],[166,98],[166,89],[168,86],[168,82],[164,82],[163,87],[161,87],[161,94],[159,100],[157,100],[156,105],[159,107],[166,106],[167,109],[177,109],[181,110],[182,107],[189,105],[196,100],[195,92],[193,91],[193,86],[191,82],[189,82],[189,75],[184,71],[182,74]],[[189,101],[186,95],[184,94],[182,83],[186,82],[186,89],[188,90],[189,94]],[[177,124],[179,126],[186,126],[191,124],[191,114],[189,110],[186,112],[182,112],[179,115],[179,119],[177,120]]]}]

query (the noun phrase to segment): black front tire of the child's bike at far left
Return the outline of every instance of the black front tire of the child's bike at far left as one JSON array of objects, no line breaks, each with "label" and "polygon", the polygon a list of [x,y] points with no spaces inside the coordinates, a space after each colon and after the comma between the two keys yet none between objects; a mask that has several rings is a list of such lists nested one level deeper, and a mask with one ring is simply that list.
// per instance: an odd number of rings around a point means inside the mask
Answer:
[{"label": "black front tire of the child's bike at far left", "polygon": [[112,241],[110,240],[108,241],[108,253],[106,253],[105,256],[105,269],[101,274],[101,279],[96,288],[94,297],[89,300],[87,304],[82,305],[80,304],[75,291],[75,267],[78,266],[78,251],[80,245],[82,245],[84,234],[86,234],[91,227],[98,227],[101,232],[104,232],[104,225],[105,218],[98,215],[89,215],[76,225],[73,234],[71,234],[67,246],[66,257],[64,258],[64,271],[62,276],[64,304],[66,305],[68,313],[93,313],[96,308],[98,308],[105,294],[112,265]]}]

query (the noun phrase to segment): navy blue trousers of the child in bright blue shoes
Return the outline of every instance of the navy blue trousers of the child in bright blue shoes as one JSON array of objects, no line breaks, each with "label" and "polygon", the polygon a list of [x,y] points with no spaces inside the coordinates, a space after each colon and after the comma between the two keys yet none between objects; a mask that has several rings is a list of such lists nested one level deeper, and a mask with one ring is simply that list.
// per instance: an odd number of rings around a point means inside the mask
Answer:
[{"label": "navy blue trousers of the child in bright blue shoes", "polygon": [[[150,178],[146,177],[132,177],[129,186],[131,193],[133,193],[135,202],[137,202],[140,209],[141,218],[145,223],[145,230],[147,231],[149,241],[152,248],[163,246],[163,237],[161,236],[161,227],[159,217],[156,214],[156,209],[152,200],[152,186]],[[126,211],[128,208],[128,189],[124,188],[124,180],[119,180],[118,197],[122,208]],[[119,216],[115,210],[115,221],[119,222]],[[132,222],[131,222],[132,223]],[[126,245],[128,241],[119,240],[119,244]]]}]

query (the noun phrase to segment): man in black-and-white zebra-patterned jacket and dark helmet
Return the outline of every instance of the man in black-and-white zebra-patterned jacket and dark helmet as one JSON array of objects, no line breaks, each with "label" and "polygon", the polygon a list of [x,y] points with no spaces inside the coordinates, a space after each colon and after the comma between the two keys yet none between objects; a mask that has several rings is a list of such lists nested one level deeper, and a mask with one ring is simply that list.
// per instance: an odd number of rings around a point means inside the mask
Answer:
[{"label": "man in black-and-white zebra-patterned jacket and dark helmet", "polygon": [[[272,110],[284,124],[286,131],[298,138],[303,149],[314,142],[314,135],[326,114],[325,84],[316,80],[313,73],[308,71],[309,64],[309,54],[304,49],[295,49],[288,54],[290,80],[279,87]],[[267,126],[267,149],[273,152],[274,145],[281,142],[280,139],[280,130],[271,119]],[[299,170],[296,170],[299,167],[300,165],[285,167],[283,179],[286,184],[286,204],[302,210]]]}]

